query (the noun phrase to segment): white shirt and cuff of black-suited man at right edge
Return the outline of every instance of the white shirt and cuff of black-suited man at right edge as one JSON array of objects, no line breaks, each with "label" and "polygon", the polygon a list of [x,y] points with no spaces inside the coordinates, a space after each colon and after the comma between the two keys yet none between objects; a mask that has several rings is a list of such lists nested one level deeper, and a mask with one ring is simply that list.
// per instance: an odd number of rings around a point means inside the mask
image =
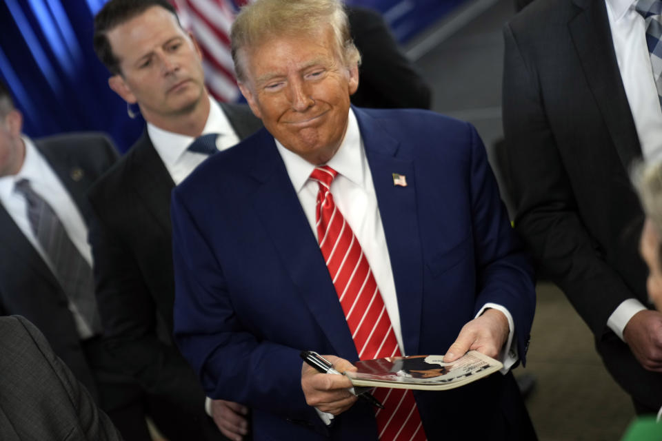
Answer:
[{"label": "white shirt and cuff of black-suited man at right edge", "polygon": [[[662,158],[662,108],[657,95],[645,39],[645,21],[634,10],[632,0],[605,0],[616,61],[619,64],[625,94],[646,161]],[[630,298],[611,314],[608,327],[623,340],[623,329],[630,318],[646,309]]]}]

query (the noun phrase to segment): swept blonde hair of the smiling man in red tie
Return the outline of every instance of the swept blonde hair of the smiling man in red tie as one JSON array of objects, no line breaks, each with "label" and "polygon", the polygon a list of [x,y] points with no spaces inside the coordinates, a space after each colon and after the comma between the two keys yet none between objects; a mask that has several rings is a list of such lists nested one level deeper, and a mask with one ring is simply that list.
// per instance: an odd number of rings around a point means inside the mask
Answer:
[{"label": "swept blonde hair of the smiling man in red tie", "polygon": [[352,42],[343,4],[337,0],[257,0],[241,8],[232,24],[232,61],[237,79],[246,80],[244,50],[279,35],[312,35],[330,25],[338,54],[345,66],[361,63],[359,50]]}]

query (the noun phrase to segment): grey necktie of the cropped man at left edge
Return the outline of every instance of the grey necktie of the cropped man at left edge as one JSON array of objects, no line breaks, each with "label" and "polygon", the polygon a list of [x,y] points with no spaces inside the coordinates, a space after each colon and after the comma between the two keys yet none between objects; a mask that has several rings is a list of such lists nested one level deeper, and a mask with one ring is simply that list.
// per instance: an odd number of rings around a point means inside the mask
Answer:
[{"label": "grey necktie of the cropped man at left edge", "polygon": [[16,191],[28,202],[28,220],[34,236],[50,258],[55,277],[68,300],[76,307],[92,334],[101,333],[101,319],[94,296],[92,268],[71,241],[52,207],[34,192],[27,179]]}]

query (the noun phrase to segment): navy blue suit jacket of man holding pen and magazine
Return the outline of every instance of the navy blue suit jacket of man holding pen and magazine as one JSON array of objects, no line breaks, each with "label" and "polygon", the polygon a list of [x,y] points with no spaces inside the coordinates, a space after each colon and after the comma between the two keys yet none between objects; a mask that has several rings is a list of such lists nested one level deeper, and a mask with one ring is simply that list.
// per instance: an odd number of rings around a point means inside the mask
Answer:
[{"label": "navy blue suit jacket of man holding pen and magazine", "polygon": [[[531,269],[477,132],[421,110],[354,112],[405,352],[445,353],[461,327],[495,302],[512,314],[523,359],[535,304]],[[393,173],[408,186],[394,186]],[[256,440],[376,439],[369,405],[357,402],[328,429],[305,403],[302,349],[358,356],[272,136],[257,132],[174,189],[172,225],[175,336],[207,393],[250,406]],[[417,402],[428,439],[448,435],[450,421],[460,427],[479,419],[490,433],[506,433],[528,420],[510,375],[417,393]]]}]

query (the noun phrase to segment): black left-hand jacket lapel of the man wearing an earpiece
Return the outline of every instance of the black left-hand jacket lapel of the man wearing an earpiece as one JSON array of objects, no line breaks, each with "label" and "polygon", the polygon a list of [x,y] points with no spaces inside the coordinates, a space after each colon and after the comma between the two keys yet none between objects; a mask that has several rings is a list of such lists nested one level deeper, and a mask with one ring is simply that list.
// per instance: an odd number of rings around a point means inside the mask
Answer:
[{"label": "black left-hand jacket lapel of the man wearing an earpiece", "polygon": [[132,187],[170,237],[172,234],[170,193],[174,188],[174,181],[157,150],[154,149],[147,131],[143,132],[143,136],[134,148],[135,152],[130,163]]}]

